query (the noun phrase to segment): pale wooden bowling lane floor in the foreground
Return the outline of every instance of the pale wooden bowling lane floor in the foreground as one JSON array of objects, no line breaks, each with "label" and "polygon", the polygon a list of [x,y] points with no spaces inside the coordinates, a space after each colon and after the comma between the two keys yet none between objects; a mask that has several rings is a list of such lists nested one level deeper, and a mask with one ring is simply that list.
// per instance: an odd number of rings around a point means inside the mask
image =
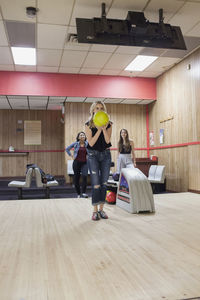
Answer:
[{"label": "pale wooden bowling lane floor in the foreground", "polygon": [[155,195],[155,214],[90,199],[0,202],[1,300],[200,296],[200,195]]}]

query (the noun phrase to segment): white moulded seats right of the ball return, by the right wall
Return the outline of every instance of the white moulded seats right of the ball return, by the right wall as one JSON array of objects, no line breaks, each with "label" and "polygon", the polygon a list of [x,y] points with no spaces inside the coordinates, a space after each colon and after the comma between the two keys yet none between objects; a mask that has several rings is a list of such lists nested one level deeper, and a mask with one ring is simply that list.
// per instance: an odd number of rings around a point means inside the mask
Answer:
[{"label": "white moulded seats right of the ball return, by the right wall", "polygon": [[148,180],[154,194],[164,192],[166,190],[165,166],[151,165]]}]

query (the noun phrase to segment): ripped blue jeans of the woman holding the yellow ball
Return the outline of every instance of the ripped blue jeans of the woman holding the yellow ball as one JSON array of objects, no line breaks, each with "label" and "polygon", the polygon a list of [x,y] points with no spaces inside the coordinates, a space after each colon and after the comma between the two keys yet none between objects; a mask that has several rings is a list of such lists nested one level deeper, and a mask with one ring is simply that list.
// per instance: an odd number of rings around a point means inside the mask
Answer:
[{"label": "ripped blue jeans of the woman holding the yellow ball", "polygon": [[92,205],[105,203],[106,183],[110,174],[111,154],[88,149],[88,167],[92,182]]}]

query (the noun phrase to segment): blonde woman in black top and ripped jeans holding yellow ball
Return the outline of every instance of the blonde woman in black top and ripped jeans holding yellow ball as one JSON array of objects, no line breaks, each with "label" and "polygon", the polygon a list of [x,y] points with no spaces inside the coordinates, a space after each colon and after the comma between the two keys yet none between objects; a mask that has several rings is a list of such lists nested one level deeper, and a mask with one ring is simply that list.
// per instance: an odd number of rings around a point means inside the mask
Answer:
[{"label": "blonde woman in black top and ripped jeans holding yellow ball", "polygon": [[111,165],[109,148],[111,147],[112,122],[108,121],[107,124],[100,127],[95,125],[93,118],[98,111],[106,112],[106,106],[101,101],[94,102],[91,105],[90,118],[85,123],[85,133],[88,141],[88,167],[92,182],[93,221],[108,219],[103,207]]}]

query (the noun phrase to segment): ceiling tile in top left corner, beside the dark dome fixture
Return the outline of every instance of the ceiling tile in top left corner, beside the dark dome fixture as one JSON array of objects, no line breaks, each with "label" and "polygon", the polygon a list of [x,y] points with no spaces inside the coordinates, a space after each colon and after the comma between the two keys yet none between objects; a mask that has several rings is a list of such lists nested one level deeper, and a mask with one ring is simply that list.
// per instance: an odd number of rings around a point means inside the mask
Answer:
[{"label": "ceiling tile in top left corner, beside the dark dome fixture", "polygon": [[3,17],[6,20],[16,20],[25,22],[36,22],[35,18],[29,18],[26,15],[26,7],[36,7],[35,0],[1,0],[1,9],[3,11]]}]

